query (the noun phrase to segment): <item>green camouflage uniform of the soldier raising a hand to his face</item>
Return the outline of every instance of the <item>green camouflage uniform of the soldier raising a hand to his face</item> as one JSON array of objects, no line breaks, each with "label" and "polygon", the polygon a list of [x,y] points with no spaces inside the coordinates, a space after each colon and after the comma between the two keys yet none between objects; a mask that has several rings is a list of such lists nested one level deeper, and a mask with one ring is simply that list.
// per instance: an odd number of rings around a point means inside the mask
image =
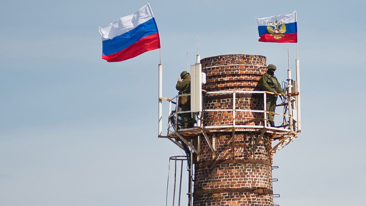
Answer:
[{"label": "green camouflage uniform of the soldier raising a hand to his face", "polygon": [[[182,76],[182,81],[178,81],[175,89],[179,91],[178,94],[190,94],[191,93],[191,75],[187,73],[186,75]],[[191,110],[191,100],[190,96],[187,98],[186,104],[180,104],[180,99],[178,105],[181,108],[181,111],[190,111]],[[193,123],[190,123],[192,121],[191,113],[183,113],[181,114],[182,119],[184,120],[184,128],[190,128],[193,127]]]}]

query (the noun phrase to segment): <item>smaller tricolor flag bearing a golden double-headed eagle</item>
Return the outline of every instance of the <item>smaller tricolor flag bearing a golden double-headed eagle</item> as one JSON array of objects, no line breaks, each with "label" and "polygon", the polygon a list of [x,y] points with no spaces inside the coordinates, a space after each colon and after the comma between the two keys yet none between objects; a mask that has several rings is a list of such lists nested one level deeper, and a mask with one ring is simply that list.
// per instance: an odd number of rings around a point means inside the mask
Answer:
[{"label": "smaller tricolor flag bearing a golden double-headed eagle", "polygon": [[296,43],[296,11],[289,14],[255,18],[258,22],[259,40],[261,42]]}]

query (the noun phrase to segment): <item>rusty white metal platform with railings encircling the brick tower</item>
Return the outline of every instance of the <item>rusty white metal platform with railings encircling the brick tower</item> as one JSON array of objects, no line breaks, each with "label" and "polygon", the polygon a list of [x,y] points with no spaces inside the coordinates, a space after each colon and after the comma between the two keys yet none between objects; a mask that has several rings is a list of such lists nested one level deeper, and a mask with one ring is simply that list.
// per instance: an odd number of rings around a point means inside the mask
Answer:
[{"label": "rusty white metal platform with railings encircling the brick tower", "polygon": [[[301,132],[298,128],[298,122],[293,119],[292,111],[288,109],[284,109],[284,113],[274,113],[274,112],[268,112],[266,111],[266,104],[264,102],[264,108],[260,110],[248,110],[248,109],[239,109],[235,105],[235,102],[238,100],[236,98],[236,95],[246,95],[246,94],[255,94],[255,95],[263,95],[263,101],[266,100],[266,94],[270,93],[268,91],[236,91],[236,90],[230,90],[230,91],[220,91],[220,92],[207,92],[212,94],[224,94],[227,95],[227,97],[232,97],[232,102],[234,102],[231,106],[231,108],[225,108],[225,109],[204,109],[204,111],[232,111],[232,116],[234,118],[232,119],[232,124],[229,125],[217,125],[217,126],[205,126],[205,120],[200,118],[200,114],[195,114],[194,117],[195,122],[193,125],[195,125],[194,128],[184,128],[180,129],[182,127],[182,120],[180,119],[180,116],[183,113],[191,113],[191,111],[180,111],[180,108],[176,105],[176,102],[178,102],[178,99],[183,95],[177,95],[174,98],[166,98],[165,101],[169,101],[169,115],[168,115],[168,127],[167,127],[167,135],[163,136],[158,135],[159,138],[167,138],[171,140],[173,143],[175,143],[177,146],[183,149],[183,143],[187,145],[194,153],[199,154],[199,151],[194,148],[194,141],[198,141],[200,137],[204,136],[208,145],[210,146],[211,150],[215,151],[215,149],[212,146],[212,142],[210,142],[207,134],[214,134],[217,132],[232,132],[234,135],[235,132],[250,132],[251,134],[259,134],[258,138],[256,139],[255,145],[253,145],[253,149],[257,146],[258,142],[263,136],[269,137],[271,141],[275,141],[276,145],[273,146],[270,149],[270,153],[276,153],[277,151],[281,150],[283,147],[288,145],[290,142],[294,141],[298,137],[298,133]],[[189,95],[189,94],[185,94]],[[288,99],[291,99],[292,95],[288,94]],[[292,98],[293,99],[293,98]],[[292,100],[291,102],[294,102],[295,100]],[[163,100],[163,99],[162,99]],[[293,103],[292,103],[293,104]],[[283,105],[278,106],[288,106],[292,105],[288,104],[288,101],[285,102]],[[175,110],[172,111],[173,105],[175,107]],[[293,108],[290,106],[290,108]],[[284,120],[282,122],[275,121],[277,124],[280,124],[281,126],[278,127],[270,127],[270,126],[264,126],[264,125],[245,125],[240,124],[239,122],[243,119],[235,118],[236,112],[253,112],[253,113],[263,113],[264,119],[261,119],[261,124],[268,125],[268,119],[266,119],[268,113],[272,113],[273,115],[282,116]],[[290,122],[292,124],[290,124]],[[192,123],[192,122],[191,122]],[[199,142],[199,141],[198,141]],[[278,142],[278,143],[277,143]]]}]

